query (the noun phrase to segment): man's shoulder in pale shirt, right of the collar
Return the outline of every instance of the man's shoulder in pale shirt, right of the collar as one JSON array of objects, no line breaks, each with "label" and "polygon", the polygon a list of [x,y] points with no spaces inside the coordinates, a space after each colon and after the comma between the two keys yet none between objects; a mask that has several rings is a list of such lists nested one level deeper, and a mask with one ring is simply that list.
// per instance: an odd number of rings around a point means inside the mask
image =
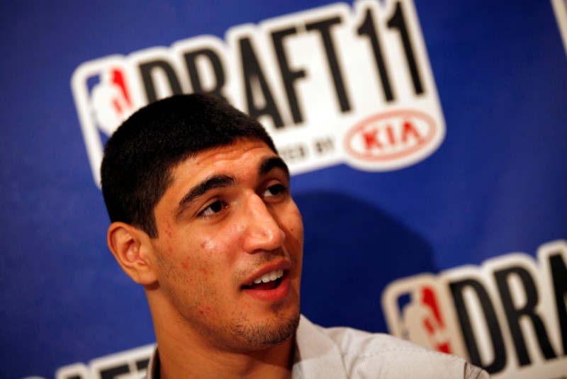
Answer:
[{"label": "man's shoulder in pale shirt, right of the collar", "polygon": [[425,349],[389,334],[323,328],[303,318],[309,338],[335,346],[349,378],[488,378],[463,358]]}]

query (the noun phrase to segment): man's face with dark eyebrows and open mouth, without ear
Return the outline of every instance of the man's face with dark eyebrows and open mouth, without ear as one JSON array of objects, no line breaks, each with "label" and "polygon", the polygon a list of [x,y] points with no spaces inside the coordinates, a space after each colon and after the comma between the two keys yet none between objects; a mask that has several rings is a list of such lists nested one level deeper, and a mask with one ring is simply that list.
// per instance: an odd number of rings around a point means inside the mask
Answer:
[{"label": "man's face with dark eyebrows and open mouth, without ear", "polygon": [[264,142],[240,140],[187,159],[172,178],[151,240],[172,321],[229,351],[293,336],[303,223],[281,159]]}]

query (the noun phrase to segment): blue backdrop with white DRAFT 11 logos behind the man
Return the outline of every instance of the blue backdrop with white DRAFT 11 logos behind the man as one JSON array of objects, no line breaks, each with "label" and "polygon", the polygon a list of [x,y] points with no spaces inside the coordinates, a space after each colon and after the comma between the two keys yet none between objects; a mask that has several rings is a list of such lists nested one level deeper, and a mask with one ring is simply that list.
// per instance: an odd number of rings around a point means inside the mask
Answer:
[{"label": "blue backdrop with white DRAFT 11 logos behind the man", "polygon": [[196,91],[288,162],[313,322],[567,375],[566,1],[0,7],[0,378],[145,373],[99,165],[137,108]]}]

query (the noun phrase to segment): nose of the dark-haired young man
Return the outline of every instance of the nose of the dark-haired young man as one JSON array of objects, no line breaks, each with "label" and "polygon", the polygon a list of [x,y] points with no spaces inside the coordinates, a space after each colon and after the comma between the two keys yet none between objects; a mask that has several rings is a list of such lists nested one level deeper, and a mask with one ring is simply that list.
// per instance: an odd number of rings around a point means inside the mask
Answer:
[{"label": "nose of the dark-haired young man", "polygon": [[245,209],[245,251],[254,254],[281,247],[286,233],[281,230],[274,210],[255,193],[248,198]]}]

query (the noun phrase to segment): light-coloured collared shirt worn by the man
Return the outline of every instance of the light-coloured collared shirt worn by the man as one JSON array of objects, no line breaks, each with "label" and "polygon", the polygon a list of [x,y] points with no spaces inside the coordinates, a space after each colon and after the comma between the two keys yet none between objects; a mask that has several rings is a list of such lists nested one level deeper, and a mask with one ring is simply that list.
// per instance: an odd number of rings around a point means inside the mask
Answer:
[{"label": "light-coloured collared shirt worn by the man", "polygon": [[[157,349],[147,368],[159,379]],[[487,379],[463,358],[431,351],[388,334],[346,327],[323,328],[303,315],[296,332],[293,379]]]}]

